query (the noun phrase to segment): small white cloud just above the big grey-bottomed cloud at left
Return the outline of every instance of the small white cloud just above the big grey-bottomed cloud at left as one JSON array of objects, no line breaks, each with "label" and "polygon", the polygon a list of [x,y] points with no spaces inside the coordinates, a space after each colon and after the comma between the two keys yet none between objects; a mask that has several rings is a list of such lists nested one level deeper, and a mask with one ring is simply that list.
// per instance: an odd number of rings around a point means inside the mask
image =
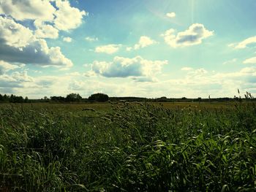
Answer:
[{"label": "small white cloud just above the big grey-bottomed cloud at left", "polygon": [[41,20],[35,20],[34,26],[37,28],[34,35],[37,38],[56,39],[59,37],[59,30],[51,25],[43,23]]}]

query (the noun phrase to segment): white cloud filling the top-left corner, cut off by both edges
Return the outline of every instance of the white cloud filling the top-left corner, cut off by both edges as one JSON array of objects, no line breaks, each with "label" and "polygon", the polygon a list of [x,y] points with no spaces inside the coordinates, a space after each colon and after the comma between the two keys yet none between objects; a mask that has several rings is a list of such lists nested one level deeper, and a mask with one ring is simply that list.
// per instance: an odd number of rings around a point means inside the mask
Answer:
[{"label": "white cloud filling the top-left corner, cut off by both edges", "polygon": [[56,9],[48,0],[3,0],[0,1],[0,14],[11,15],[15,20],[47,20],[54,18]]}]

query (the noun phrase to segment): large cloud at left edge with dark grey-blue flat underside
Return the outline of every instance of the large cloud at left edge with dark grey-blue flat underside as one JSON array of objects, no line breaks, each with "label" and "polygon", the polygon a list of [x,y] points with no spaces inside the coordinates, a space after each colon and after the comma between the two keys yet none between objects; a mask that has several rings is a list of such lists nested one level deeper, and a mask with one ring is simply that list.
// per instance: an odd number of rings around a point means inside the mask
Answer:
[{"label": "large cloud at left edge with dark grey-blue flat underside", "polygon": [[48,47],[29,28],[4,17],[0,17],[0,58],[11,63],[72,66],[60,47]]}]

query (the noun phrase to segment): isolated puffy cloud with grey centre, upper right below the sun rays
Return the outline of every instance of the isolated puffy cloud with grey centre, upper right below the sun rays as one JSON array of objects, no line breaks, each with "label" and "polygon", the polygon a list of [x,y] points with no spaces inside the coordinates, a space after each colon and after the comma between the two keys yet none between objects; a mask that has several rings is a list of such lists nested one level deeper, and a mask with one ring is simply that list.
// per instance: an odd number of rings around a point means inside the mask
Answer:
[{"label": "isolated puffy cloud with grey centre, upper right below the sun rays", "polygon": [[175,34],[175,30],[170,28],[165,31],[165,34],[162,34],[162,37],[170,47],[187,47],[198,45],[202,43],[203,39],[211,37],[213,34],[214,31],[208,31],[203,24],[194,23],[189,26],[189,29],[178,32],[178,34]]}]

